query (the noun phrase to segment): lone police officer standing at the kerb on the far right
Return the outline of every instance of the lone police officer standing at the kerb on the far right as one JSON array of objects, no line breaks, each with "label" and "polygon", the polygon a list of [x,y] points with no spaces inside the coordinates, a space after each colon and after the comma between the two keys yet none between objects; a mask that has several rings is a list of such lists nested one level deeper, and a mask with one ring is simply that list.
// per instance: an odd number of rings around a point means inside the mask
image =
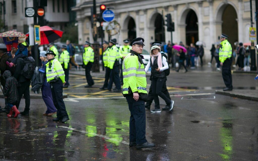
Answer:
[{"label": "lone police officer standing at the kerb on the far right", "polygon": [[220,37],[220,52],[219,59],[220,65],[222,66],[222,77],[226,88],[223,91],[231,91],[232,86],[232,75],[231,75],[231,64],[232,64],[232,47],[228,42],[228,36],[223,34]]}]

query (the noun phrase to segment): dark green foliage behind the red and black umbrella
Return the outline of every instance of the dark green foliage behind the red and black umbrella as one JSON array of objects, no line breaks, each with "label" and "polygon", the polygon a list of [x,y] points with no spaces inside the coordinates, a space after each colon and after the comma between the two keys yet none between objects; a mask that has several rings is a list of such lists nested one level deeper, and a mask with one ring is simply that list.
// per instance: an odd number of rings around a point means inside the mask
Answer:
[{"label": "dark green foliage behind the red and black umbrella", "polygon": [[78,27],[74,26],[74,23],[68,24],[68,26],[63,29],[61,42],[66,42],[66,40],[70,40],[71,43],[78,44]]}]

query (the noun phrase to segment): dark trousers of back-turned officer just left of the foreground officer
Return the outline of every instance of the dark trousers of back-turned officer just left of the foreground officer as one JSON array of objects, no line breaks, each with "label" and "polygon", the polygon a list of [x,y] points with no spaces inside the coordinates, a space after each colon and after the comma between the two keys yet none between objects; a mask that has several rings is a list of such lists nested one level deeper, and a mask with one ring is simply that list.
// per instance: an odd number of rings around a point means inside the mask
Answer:
[{"label": "dark trousers of back-turned officer just left of the foreground officer", "polygon": [[120,83],[120,78],[119,78],[119,65],[116,65],[111,69],[110,72],[110,78],[109,78],[109,83],[108,83],[108,89],[111,89],[113,86],[113,82],[116,85],[116,89],[121,89],[121,83]]}]

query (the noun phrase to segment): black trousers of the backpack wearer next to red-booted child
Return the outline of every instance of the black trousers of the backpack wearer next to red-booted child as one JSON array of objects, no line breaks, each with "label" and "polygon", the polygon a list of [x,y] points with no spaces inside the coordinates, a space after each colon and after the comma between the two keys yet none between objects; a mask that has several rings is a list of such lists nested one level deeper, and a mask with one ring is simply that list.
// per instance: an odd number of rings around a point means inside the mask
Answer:
[{"label": "black trousers of the backpack wearer next to red-booted child", "polygon": [[16,103],[17,109],[19,108],[21,97],[24,95],[25,98],[25,109],[24,111],[30,110],[30,80],[26,80],[25,82],[20,83],[19,87],[17,87],[19,98]]}]

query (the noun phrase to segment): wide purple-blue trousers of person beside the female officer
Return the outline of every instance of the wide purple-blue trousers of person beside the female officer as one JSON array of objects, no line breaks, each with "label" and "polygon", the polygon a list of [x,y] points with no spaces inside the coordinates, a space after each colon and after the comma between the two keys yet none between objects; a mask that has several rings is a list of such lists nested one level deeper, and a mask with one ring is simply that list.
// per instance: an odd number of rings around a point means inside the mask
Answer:
[{"label": "wide purple-blue trousers of person beside the female officer", "polygon": [[49,86],[42,86],[42,98],[47,106],[46,114],[57,112],[55,105],[53,103],[53,98],[51,94],[51,87]]}]

